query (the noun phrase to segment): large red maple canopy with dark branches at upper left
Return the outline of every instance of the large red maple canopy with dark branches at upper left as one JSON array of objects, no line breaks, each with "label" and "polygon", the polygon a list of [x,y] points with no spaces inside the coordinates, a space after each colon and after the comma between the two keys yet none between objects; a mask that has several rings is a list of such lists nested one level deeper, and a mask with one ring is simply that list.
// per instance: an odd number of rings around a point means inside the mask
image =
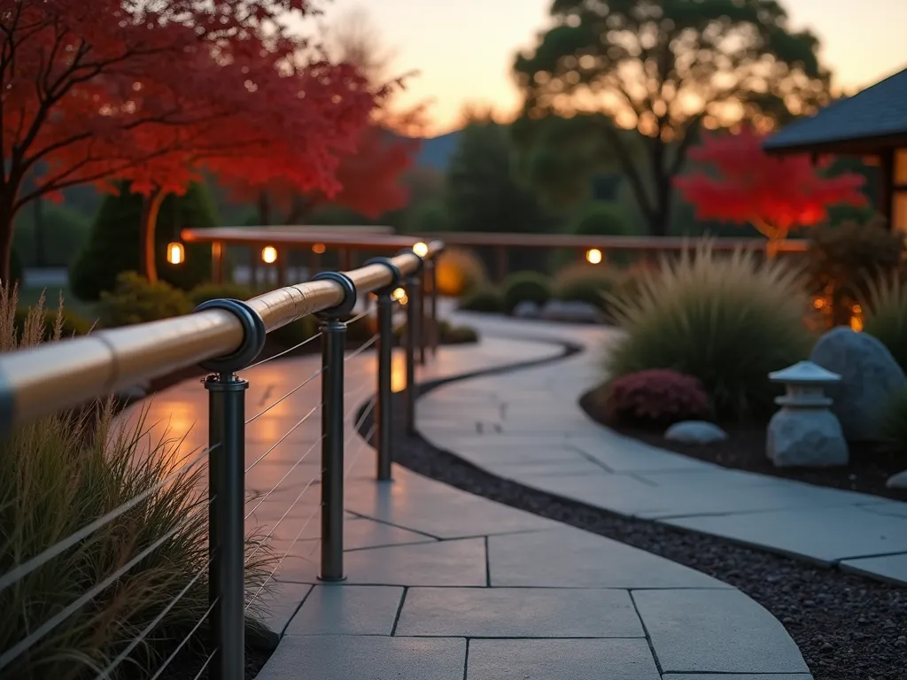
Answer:
[{"label": "large red maple canopy with dark branches at upper left", "polygon": [[161,196],[204,165],[339,190],[339,157],[383,92],[349,64],[300,58],[313,46],[288,31],[288,17],[312,9],[312,0],[0,0],[0,278],[18,210],[76,184],[129,180]]}]

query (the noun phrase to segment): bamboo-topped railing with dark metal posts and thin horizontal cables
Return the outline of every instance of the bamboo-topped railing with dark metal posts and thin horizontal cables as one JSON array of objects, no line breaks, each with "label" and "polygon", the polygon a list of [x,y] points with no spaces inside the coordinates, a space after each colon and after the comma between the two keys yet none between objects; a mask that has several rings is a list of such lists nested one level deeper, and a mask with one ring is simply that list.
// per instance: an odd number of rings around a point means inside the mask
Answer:
[{"label": "bamboo-topped railing with dark metal posts and thin horizontal cables", "polygon": [[[373,238],[376,248],[387,245],[386,238]],[[0,649],[0,676],[32,677],[27,668],[23,670],[26,667],[23,659],[52,653],[53,650],[42,648],[41,644],[54,629],[89,606],[102,592],[117,587],[120,579],[193,521],[203,521],[207,516],[208,551],[201,568],[186,575],[188,581],[151,620],[142,622],[141,629],[132,638],[115,648],[112,658],[91,668],[97,680],[106,680],[112,678],[124,663],[133,663],[132,656],[137,649],[155,639],[157,629],[167,620],[171,610],[183,598],[190,597],[207,577],[207,607],[191,622],[185,636],[171,640],[164,654],[155,657],[157,667],[144,669],[145,675],[166,677],[168,668],[180,653],[187,646],[198,643],[202,633],[207,633],[207,656],[196,677],[207,673],[217,680],[241,680],[246,667],[246,617],[260,604],[280,568],[316,520],[320,522],[316,536],[306,539],[312,540],[311,551],[300,557],[309,559],[316,549],[320,549],[317,578],[328,582],[345,578],[344,486],[372,442],[377,454],[376,479],[391,479],[394,317],[401,309],[405,310],[406,316],[405,422],[407,430],[414,431],[415,364],[424,361],[420,330],[422,322],[434,322],[434,317],[431,320],[423,318],[424,287],[421,283],[425,279],[426,265],[431,267],[430,263],[442,249],[443,244],[438,241],[421,244],[418,254],[407,248],[395,257],[377,257],[346,273],[322,272],[307,283],[281,287],[248,301],[211,300],[190,315],[101,330],[81,338],[0,355],[0,428],[7,434],[16,427],[62,410],[78,409],[84,403],[102,399],[138,381],[160,378],[194,364],[210,372],[203,381],[208,393],[207,444],[190,452],[179,465],[116,508],[93,517],[69,535],[55,540],[53,545],[40,546],[32,551],[34,554],[17,559],[12,568],[0,574],[0,596],[5,592],[15,593],[23,579],[40,575],[40,570],[50,566],[55,559],[90,545],[99,531],[113,522],[132,517],[130,513],[141,510],[143,504],[151,502],[174,480],[197,473],[205,466],[207,496],[194,504],[168,531],[147,545],[141,545],[141,549],[134,550],[128,559],[120,560],[98,582],[83,592],[73,593],[72,601],[67,605],[45,620],[29,620],[19,639]],[[405,289],[405,306],[395,296],[400,287]],[[358,346],[349,348],[346,327],[370,313],[369,296],[375,297],[376,332]],[[361,300],[366,301],[366,310],[351,316],[357,301]],[[258,360],[268,332],[309,315],[317,316],[317,335],[289,350]],[[313,371],[307,364],[305,374],[297,378],[298,382],[290,383],[295,386],[286,392],[281,390],[267,405],[258,404],[256,412],[247,415],[246,393],[249,380],[256,379],[256,369],[314,342],[319,342],[321,349],[317,370]],[[346,384],[346,366],[373,347],[377,364],[374,381],[364,381],[351,388]],[[278,404],[288,403],[295,394],[316,388],[320,390],[317,403],[301,413],[294,413],[291,424],[269,438],[264,443],[264,451],[255,452],[254,460],[248,461],[247,425],[268,417]],[[362,407],[362,397],[369,393],[374,396]],[[373,412],[374,425],[353,442],[352,451],[347,455],[346,433],[359,432]],[[294,433],[314,427],[318,421],[316,416],[320,417],[320,423],[314,441],[299,446],[294,443],[299,449],[298,455],[294,454],[289,461],[281,459],[277,480],[250,495],[246,476],[259,464],[271,464],[268,459],[276,455],[280,447],[288,446]],[[320,464],[310,464],[319,454],[317,462]],[[310,476],[305,471],[307,467],[313,470]],[[302,480],[297,481],[300,471]],[[312,499],[315,493],[319,494],[317,502]],[[310,510],[308,505],[311,505]],[[258,510],[268,506],[271,506],[270,516],[277,519],[262,528],[262,534],[254,541],[249,541],[249,520]],[[305,507],[301,520],[293,514],[300,506]],[[277,541],[279,548],[272,549],[274,539],[282,535],[278,531],[283,532],[290,524],[289,538]],[[246,570],[258,564],[256,559],[265,556],[268,556],[267,568],[262,572],[260,583],[250,588],[253,592],[247,592]]]}]

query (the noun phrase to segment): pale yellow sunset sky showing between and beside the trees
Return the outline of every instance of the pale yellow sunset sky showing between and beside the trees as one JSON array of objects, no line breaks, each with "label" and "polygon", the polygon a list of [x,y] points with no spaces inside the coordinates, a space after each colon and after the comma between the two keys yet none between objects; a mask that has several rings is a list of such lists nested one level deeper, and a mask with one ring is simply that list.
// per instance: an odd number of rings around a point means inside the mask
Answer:
[{"label": "pale yellow sunset sky showing between and beside the trees", "polygon": [[[783,0],[796,28],[819,34],[823,57],[838,87],[872,84],[907,67],[907,0]],[[385,43],[396,50],[395,68],[412,69],[400,102],[430,101],[431,129],[457,127],[463,106],[491,104],[515,110],[513,55],[533,44],[549,22],[551,0],[334,0],[327,21],[365,8]]]}]

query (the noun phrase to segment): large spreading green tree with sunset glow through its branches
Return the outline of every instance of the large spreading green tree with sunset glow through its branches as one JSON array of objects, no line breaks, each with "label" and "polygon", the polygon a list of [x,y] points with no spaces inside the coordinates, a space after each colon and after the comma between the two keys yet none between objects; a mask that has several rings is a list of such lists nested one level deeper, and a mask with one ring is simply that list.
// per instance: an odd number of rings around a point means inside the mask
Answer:
[{"label": "large spreading green tree with sunset glow through its branches", "polygon": [[555,0],[551,15],[514,64],[526,175],[576,201],[590,175],[619,170],[653,236],[703,127],[766,129],[829,99],[818,39],[775,0]]}]

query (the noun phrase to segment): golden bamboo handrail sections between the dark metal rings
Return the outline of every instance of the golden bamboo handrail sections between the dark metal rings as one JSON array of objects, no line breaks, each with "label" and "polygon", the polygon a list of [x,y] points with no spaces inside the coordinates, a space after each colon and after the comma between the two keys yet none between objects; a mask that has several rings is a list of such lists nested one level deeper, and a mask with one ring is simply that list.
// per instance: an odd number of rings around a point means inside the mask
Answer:
[{"label": "golden bamboo handrail sections between the dark metal rings", "polygon": [[[387,237],[355,240],[363,247],[368,241],[375,249],[391,248]],[[394,247],[399,246],[399,240],[395,240]],[[412,247],[412,239],[404,240]],[[424,257],[434,257],[443,248],[440,241],[433,241],[427,245]],[[418,270],[420,258],[408,252],[391,261],[407,275]],[[360,296],[392,281],[390,269],[382,265],[360,267],[346,275]],[[270,332],[337,306],[343,298],[340,284],[319,280],[280,287],[253,297],[248,303]],[[209,309],[0,355],[0,430],[229,355],[242,342],[239,319],[228,311]]]}]

